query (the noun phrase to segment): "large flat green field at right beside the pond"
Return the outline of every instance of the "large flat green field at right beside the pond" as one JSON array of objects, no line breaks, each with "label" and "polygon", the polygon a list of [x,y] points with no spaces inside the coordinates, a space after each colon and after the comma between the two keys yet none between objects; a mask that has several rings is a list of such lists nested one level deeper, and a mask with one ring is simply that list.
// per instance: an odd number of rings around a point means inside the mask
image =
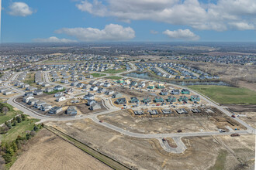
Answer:
[{"label": "large flat green field at right beside the pond", "polygon": [[220,104],[256,104],[256,92],[246,88],[225,86],[189,86]]}]

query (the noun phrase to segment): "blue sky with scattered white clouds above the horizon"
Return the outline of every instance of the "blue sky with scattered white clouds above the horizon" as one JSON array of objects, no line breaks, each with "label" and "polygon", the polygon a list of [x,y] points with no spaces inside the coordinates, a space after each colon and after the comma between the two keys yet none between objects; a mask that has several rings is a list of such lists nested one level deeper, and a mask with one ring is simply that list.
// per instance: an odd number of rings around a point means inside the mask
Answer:
[{"label": "blue sky with scattered white clouds above the horizon", "polygon": [[2,42],[256,42],[255,0],[2,0]]}]

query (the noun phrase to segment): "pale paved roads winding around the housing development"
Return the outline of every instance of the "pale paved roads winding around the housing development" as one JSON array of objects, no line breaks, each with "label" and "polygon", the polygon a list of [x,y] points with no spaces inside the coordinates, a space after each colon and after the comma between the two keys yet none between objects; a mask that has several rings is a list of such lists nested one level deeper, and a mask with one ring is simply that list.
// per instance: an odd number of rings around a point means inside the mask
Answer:
[{"label": "pale paved roads winding around the housing development", "polygon": [[[133,64],[132,64],[133,66]],[[136,70],[136,68],[133,66],[133,70]],[[127,73],[127,72],[126,72]],[[118,76],[122,76],[121,73],[118,74],[114,74],[114,75],[118,75]],[[19,73],[16,73],[14,76],[12,76],[12,80],[16,80],[16,77],[19,76]],[[48,82],[48,83],[53,83],[50,82],[50,78],[48,75],[48,72],[43,73],[43,79]],[[58,83],[53,83],[53,84],[58,84]],[[168,83],[170,84],[170,83]],[[91,114],[91,115],[79,115],[76,117],[47,117],[47,116],[43,116],[40,114],[37,114],[35,111],[30,110],[27,107],[22,106],[22,104],[18,104],[16,102],[16,97],[20,97],[24,94],[24,91],[19,90],[16,87],[11,87],[9,86],[9,82],[4,83],[5,87],[9,87],[12,90],[16,90],[16,92],[20,93],[18,96],[15,97],[11,97],[7,103],[11,104],[13,107],[17,107],[19,110],[22,110],[25,114],[28,114],[31,117],[35,117],[38,119],[41,119],[41,121],[71,121],[71,120],[79,120],[79,119],[84,119],[84,118],[91,118],[92,121],[95,121],[95,123],[100,124],[106,128],[112,129],[113,131],[118,131],[121,134],[126,134],[130,137],[135,137],[135,138],[157,138],[158,141],[160,142],[162,148],[164,148],[165,151],[169,151],[169,152],[173,152],[173,153],[182,153],[183,151],[185,151],[186,147],[184,145],[184,143],[182,142],[181,138],[182,137],[190,137],[190,136],[209,136],[209,135],[220,135],[220,134],[232,134],[234,133],[233,131],[230,132],[225,132],[225,133],[220,133],[219,131],[204,131],[204,132],[190,132],[190,133],[172,133],[172,134],[140,134],[140,133],[133,133],[131,131],[126,131],[122,128],[116,127],[112,124],[108,124],[106,122],[99,122],[98,116],[99,115],[103,115],[103,114],[109,114],[111,112],[120,110],[117,107],[112,106],[112,104],[109,103],[109,101],[106,100],[106,98],[101,97],[103,104],[106,105],[106,107],[108,108],[108,110],[106,111],[102,111],[96,114]],[[179,87],[175,84],[171,84],[171,86],[173,87]],[[183,87],[181,87],[183,88]],[[192,92],[196,93],[195,91],[192,90]],[[229,111],[227,111],[225,108],[220,107],[220,105],[216,104],[215,102],[213,102],[212,100],[209,100],[207,97],[202,96],[201,94],[197,93],[203,100],[206,100],[207,102],[209,102],[209,104],[213,105],[214,107],[218,108],[219,110],[223,111],[224,114],[227,114],[228,116],[230,116],[231,114],[229,113]],[[240,119],[236,118],[236,120],[240,123],[243,124],[247,130],[246,131],[236,131],[236,133],[238,134],[248,134],[248,133],[254,133],[254,128],[251,128],[251,126],[249,126],[248,124],[246,124],[244,121],[241,121]],[[168,144],[164,143],[161,139],[162,138],[173,138],[176,145],[178,146],[177,148],[171,148]]]}]

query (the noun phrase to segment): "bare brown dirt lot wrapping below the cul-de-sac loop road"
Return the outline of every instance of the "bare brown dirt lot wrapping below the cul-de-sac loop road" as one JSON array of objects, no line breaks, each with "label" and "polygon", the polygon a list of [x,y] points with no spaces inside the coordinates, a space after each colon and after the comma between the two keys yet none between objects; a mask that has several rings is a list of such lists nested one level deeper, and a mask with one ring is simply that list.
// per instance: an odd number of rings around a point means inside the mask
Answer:
[{"label": "bare brown dirt lot wrapping below the cul-de-sac loop road", "polygon": [[[164,151],[157,140],[130,138],[95,124],[90,120],[50,122],[61,131],[83,141],[98,151],[117,159],[133,169],[199,169],[205,170],[216,164],[221,169],[234,169],[240,162],[223,146],[228,145],[235,151],[235,156],[247,162],[254,156],[254,135],[242,135],[238,138],[230,136],[218,137],[223,144],[212,137],[183,138],[186,147],[184,153],[176,155]],[[97,135],[95,135],[97,134]],[[230,145],[232,143],[232,145]],[[243,145],[240,145],[242,143]],[[227,151],[224,162],[219,162],[218,155]],[[232,162],[228,164],[229,162]],[[232,167],[232,168],[231,168]],[[239,169],[239,168],[237,168]]]}]

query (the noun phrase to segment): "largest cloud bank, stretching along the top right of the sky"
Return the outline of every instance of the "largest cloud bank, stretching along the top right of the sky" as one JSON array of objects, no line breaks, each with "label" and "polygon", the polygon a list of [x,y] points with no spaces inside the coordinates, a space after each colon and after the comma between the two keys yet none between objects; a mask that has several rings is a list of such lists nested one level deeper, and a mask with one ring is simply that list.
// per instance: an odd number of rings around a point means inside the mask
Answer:
[{"label": "largest cloud bank, stretching along the top right of the sky", "polygon": [[82,12],[124,22],[151,20],[216,31],[241,30],[243,26],[234,23],[243,22],[245,29],[255,29],[256,25],[255,0],[80,0],[76,6]]}]

